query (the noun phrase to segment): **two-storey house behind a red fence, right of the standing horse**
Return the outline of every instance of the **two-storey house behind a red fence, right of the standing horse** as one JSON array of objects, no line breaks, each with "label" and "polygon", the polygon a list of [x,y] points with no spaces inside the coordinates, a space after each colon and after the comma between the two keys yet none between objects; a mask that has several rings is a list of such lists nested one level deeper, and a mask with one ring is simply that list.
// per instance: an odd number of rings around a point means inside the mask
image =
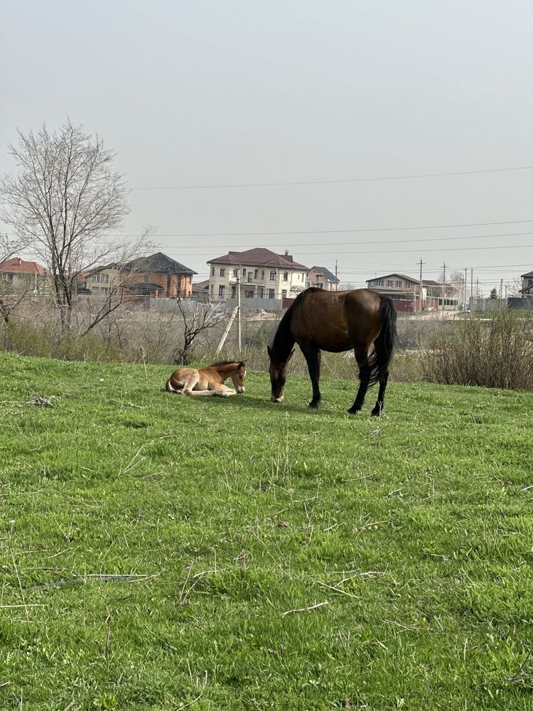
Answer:
[{"label": "two-storey house behind a red fence, right of the standing horse", "polygon": [[454,298],[452,284],[441,284],[432,279],[422,279],[422,294],[420,294],[420,280],[408,277],[406,274],[384,274],[383,277],[367,279],[367,287],[390,296],[397,311],[458,308],[458,300]]}]

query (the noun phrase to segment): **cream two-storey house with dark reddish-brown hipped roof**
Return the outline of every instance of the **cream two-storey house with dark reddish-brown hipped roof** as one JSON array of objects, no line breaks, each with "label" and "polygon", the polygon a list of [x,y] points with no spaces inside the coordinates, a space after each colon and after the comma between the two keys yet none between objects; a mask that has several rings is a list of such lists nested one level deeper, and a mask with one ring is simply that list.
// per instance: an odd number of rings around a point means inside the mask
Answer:
[{"label": "cream two-storey house with dark reddish-brown hipped roof", "polygon": [[228,252],[208,260],[209,296],[216,301],[235,299],[237,279],[243,299],[294,299],[306,288],[309,268],[286,251],[278,255],[264,247]]}]

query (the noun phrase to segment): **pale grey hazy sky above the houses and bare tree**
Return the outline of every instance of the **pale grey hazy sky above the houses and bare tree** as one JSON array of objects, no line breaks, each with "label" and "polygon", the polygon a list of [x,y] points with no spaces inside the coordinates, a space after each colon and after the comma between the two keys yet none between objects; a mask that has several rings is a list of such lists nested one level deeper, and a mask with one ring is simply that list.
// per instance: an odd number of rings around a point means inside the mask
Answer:
[{"label": "pale grey hazy sky above the houses and bare tree", "polygon": [[0,172],[69,116],[198,279],[261,246],[487,292],[533,269],[532,37],[530,0],[4,0]]}]

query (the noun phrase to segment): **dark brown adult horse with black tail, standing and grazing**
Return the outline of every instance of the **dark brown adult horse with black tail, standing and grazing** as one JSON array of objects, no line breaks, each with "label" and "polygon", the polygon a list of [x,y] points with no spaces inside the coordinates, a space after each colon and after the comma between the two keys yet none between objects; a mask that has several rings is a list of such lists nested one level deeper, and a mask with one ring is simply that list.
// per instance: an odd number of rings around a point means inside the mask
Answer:
[{"label": "dark brown adult horse with black tail, standing and grazing", "polygon": [[[321,351],[340,353],[354,349],[359,365],[360,386],[351,415],[361,410],[369,385],[379,381],[379,393],[372,415],[383,410],[385,388],[389,377],[396,333],[396,309],[388,296],[373,289],[353,289],[350,292],[325,292],[306,289],[296,296],[279,322],[274,342],[267,347],[270,357],[272,402],[281,402],[287,379],[287,365],[298,343],[306,358],[313,384],[313,399],[309,407],[318,407]],[[374,351],[369,356],[370,346]]]}]

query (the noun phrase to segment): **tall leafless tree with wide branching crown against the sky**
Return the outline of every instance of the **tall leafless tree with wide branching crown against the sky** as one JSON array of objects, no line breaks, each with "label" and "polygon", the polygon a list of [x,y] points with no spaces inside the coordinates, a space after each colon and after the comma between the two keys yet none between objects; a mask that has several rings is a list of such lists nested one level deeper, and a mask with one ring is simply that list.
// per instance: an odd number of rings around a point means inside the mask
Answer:
[{"label": "tall leafless tree with wide branching crown against the sky", "polygon": [[126,250],[124,242],[106,238],[128,212],[123,177],[112,171],[114,156],[102,139],[70,119],[53,134],[45,126],[36,134],[18,132],[9,152],[18,175],[0,181],[0,218],[48,268],[61,328],[69,331],[84,272],[117,262]]}]

